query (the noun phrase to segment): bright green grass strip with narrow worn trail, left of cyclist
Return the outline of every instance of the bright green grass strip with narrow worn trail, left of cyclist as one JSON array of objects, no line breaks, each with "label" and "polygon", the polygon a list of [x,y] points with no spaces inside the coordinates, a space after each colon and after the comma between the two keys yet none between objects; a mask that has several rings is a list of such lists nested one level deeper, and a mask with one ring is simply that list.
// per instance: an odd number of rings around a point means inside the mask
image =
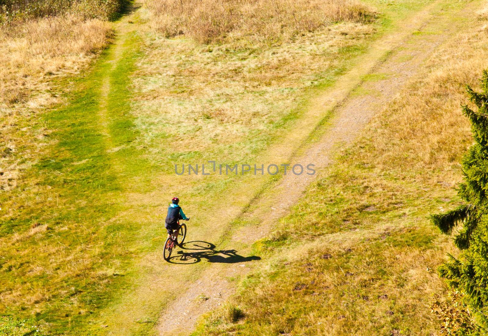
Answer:
[{"label": "bright green grass strip with narrow worn trail, left of cyclist", "polygon": [[[129,8],[136,9],[137,3]],[[115,24],[113,45],[88,73],[57,83],[55,92],[63,92],[66,102],[29,125],[50,130],[39,140],[40,160],[18,189],[1,195],[6,220],[0,244],[10,264],[2,277],[7,293],[24,297],[32,311],[6,299],[2,308],[18,318],[35,314],[56,333],[99,333],[100,327],[89,323],[91,314],[125,286],[118,270],[136,253],[127,243],[134,242],[140,226],[112,220],[126,208],[125,195],[141,189],[134,176],[146,168],[144,160],[127,160],[140,155],[127,146],[137,136],[127,83],[141,45],[129,18],[136,20],[137,14]],[[35,260],[28,257],[33,255]],[[73,302],[79,302],[76,310]]]}]

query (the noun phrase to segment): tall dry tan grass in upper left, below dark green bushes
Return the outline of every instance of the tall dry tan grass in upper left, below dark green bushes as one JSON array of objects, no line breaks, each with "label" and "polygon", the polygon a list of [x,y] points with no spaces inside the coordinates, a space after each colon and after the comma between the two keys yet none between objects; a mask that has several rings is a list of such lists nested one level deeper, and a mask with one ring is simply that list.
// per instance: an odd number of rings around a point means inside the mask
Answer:
[{"label": "tall dry tan grass in upper left, below dark green bushes", "polygon": [[107,42],[110,27],[79,16],[52,17],[4,26],[0,31],[0,97],[22,102],[26,90],[39,89],[43,79],[76,71]]}]

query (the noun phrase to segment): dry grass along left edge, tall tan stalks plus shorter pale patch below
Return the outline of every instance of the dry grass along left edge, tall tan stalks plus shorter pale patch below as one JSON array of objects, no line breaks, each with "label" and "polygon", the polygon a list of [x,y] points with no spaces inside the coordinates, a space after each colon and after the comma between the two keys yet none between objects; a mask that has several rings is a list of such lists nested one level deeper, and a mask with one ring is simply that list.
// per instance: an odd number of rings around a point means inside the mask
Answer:
[{"label": "dry grass along left edge, tall tan stalks plus shorter pale patch below", "polygon": [[58,101],[51,93],[53,80],[79,72],[110,33],[108,22],[76,15],[1,26],[0,190],[16,186],[20,170],[32,164],[39,150],[36,137],[47,135],[42,130],[33,134],[28,120]]}]

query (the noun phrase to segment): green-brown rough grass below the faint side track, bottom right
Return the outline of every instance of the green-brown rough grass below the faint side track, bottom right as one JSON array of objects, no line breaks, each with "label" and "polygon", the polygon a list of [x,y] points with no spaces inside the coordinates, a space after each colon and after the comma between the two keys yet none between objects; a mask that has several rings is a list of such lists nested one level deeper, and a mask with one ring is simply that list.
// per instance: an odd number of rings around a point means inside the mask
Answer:
[{"label": "green-brown rough grass below the faint side track, bottom right", "polygon": [[[382,236],[358,236],[313,248],[303,258],[284,259],[268,273],[248,277],[235,303],[244,317],[232,323],[215,311],[193,335],[435,332],[434,316],[418,316],[430,296],[415,290],[410,273],[422,271],[422,264],[437,252],[437,233],[426,227],[397,227]],[[404,259],[399,262],[399,257]],[[415,285],[429,286],[424,279]]]}]

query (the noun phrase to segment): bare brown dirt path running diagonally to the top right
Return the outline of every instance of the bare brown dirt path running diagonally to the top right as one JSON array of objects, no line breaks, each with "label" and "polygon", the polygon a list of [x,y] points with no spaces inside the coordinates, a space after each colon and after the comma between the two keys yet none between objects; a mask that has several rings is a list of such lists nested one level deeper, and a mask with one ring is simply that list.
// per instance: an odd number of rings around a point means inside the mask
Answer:
[{"label": "bare brown dirt path running diagonally to the top right", "polygon": [[[334,117],[329,121],[325,133],[318,140],[305,142],[303,147],[308,148],[295,155],[292,162],[314,163],[319,171],[325,168],[332,161],[337,147],[356,138],[375,113],[381,111],[416,74],[435,48],[460,30],[459,26],[452,24],[451,15],[436,15],[442,2],[437,1],[406,22],[402,33],[396,32],[376,43],[364,56],[361,69],[353,69],[332,90],[316,99],[307,114],[310,117],[324,116],[324,111],[332,109]],[[388,56],[385,58],[385,55]],[[369,76],[365,80],[352,80],[366,74]],[[302,125],[298,124],[295,129],[306,129],[307,125],[304,124],[317,121],[317,118],[304,118],[300,121]],[[321,130],[315,132],[320,133]],[[282,145],[271,149],[271,152],[281,153]],[[243,257],[241,261],[234,257],[231,261],[234,249],[238,249],[242,255],[250,253],[250,244],[269,233],[276,220],[288,213],[290,206],[299,200],[314,178],[316,176],[288,174],[276,188],[264,190],[240,216],[246,222],[258,225],[246,225],[233,232],[229,243],[219,246],[219,250],[205,250],[202,243],[186,246],[187,250],[181,253],[182,263],[192,263],[204,257],[212,264],[164,310],[159,319],[159,335],[187,335],[199,316],[221,305],[233,293],[234,286],[230,279],[249,272],[256,263],[252,261],[256,259],[253,257]],[[226,258],[231,263],[226,263]]]}]

